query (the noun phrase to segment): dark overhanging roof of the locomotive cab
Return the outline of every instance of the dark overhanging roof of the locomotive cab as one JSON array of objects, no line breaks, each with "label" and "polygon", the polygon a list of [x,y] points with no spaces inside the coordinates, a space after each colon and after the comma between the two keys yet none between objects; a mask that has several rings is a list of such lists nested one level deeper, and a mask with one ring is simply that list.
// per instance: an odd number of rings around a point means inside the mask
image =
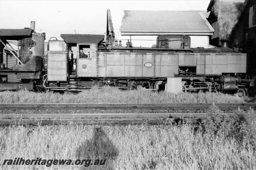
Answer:
[{"label": "dark overhanging roof of the locomotive cab", "polygon": [[104,35],[95,34],[60,34],[66,43],[96,43],[104,39]]}]

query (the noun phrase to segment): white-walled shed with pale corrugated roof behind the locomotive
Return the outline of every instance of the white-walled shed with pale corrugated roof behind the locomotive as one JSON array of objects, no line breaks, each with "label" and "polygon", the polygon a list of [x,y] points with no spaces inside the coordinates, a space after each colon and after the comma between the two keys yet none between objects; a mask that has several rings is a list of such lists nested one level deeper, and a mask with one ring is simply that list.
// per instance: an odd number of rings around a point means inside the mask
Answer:
[{"label": "white-walled shed with pale corrugated roof behind the locomotive", "polygon": [[131,39],[134,47],[152,47],[156,37],[165,34],[188,35],[191,48],[209,48],[209,37],[214,34],[200,11],[124,11],[120,31],[121,38],[116,39]]}]

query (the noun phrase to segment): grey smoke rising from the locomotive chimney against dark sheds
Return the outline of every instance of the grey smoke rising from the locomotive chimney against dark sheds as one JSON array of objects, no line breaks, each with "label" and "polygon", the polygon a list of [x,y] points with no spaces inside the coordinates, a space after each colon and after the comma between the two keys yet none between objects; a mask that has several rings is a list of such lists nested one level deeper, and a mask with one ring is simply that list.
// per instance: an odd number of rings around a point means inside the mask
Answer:
[{"label": "grey smoke rising from the locomotive chimney against dark sheds", "polygon": [[238,21],[239,10],[234,3],[215,1],[212,11],[218,17],[220,37],[227,39]]}]

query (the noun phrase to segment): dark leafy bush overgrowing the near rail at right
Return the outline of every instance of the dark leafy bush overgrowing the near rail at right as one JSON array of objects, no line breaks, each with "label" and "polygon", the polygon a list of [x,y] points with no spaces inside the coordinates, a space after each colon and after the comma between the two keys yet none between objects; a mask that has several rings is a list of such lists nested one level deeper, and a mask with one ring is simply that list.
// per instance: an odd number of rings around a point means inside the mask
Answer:
[{"label": "dark leafy bush overgrowing the near rail at right", "polygon": [[240,144],[249,143],[256,149],[256,114],[251,108],[234,110],[234,115],[227,115],[213,105],[202,125],[206,133],[233,138]]}]

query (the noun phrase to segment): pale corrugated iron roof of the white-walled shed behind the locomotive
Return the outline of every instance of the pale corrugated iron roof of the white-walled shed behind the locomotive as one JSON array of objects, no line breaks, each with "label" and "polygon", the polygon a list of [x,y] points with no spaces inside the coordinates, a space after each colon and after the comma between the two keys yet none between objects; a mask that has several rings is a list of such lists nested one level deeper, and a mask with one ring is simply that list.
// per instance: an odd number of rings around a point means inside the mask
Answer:
[{"label": "pale corrugated iron roof of the white-walled shed behind the locomotive", "polygon": [[121,33],[213,33],[198,11],[124,11]]}]

